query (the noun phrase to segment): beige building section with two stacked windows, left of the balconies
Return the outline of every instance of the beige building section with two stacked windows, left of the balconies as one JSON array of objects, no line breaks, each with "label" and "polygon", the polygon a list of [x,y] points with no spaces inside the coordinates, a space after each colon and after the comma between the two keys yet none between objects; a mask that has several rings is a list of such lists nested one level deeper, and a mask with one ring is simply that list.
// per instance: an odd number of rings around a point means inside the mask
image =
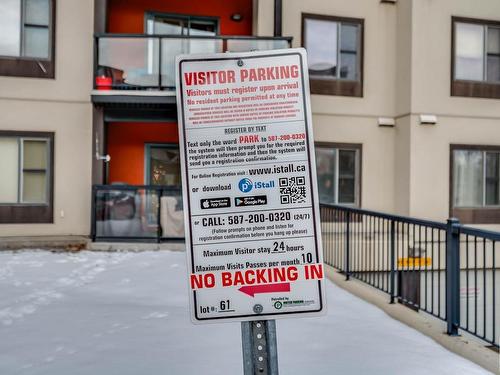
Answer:
[{"label": "beige building section with two stacked windows, left of the balconies", "polygon": [[0,2],[0,236],[89,233],[91,1]]}]

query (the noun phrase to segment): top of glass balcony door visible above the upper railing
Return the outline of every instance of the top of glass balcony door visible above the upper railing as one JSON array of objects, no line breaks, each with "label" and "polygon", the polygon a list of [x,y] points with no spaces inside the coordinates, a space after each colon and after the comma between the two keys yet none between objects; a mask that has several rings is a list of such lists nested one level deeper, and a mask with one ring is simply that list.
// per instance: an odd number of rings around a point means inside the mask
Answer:
[{"label": "top of glass balcony door visible above the upper railing", "polygon": [[219,33],[219,19],[216,17],[148,12],[146,20],[146,32],[150,35],[214,36]]}]

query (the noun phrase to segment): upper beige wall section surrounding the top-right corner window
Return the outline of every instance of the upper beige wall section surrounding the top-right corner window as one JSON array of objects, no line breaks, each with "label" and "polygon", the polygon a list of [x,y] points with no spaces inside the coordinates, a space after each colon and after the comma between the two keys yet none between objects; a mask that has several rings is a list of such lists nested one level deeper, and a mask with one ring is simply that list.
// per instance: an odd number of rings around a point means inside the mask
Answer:
[{"label": "upper beige wall section surrounding the top-right corner window", "polygon": [[500,118],[498,100],[450,95],[452,16],[500,21],[500,1],[413,1],[412,111]]}]

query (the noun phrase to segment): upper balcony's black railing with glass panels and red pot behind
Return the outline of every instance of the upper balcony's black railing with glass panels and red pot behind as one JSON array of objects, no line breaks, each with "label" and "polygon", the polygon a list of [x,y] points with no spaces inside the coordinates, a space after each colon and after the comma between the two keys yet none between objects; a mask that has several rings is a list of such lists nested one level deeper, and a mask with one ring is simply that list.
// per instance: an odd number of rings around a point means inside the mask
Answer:
[{"label": "upper balcony's black railing with glass panels and red pot behind", "polygon": [[171,90],[177,55],[283,49],[291,41],[291,37],[99,34],[95,36],[94,88]]}]

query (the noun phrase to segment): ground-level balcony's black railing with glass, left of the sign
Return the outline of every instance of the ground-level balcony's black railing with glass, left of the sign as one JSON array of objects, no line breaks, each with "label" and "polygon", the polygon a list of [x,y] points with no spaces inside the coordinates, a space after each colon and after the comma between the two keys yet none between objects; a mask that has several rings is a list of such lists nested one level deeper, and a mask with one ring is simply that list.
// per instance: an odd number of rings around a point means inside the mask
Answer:
[{"label": "ground-level balcony's black railing with glass, left of the sign", "polygon": [[91,236],[116,242],[184,240],[181,188],[92,186]]}]

